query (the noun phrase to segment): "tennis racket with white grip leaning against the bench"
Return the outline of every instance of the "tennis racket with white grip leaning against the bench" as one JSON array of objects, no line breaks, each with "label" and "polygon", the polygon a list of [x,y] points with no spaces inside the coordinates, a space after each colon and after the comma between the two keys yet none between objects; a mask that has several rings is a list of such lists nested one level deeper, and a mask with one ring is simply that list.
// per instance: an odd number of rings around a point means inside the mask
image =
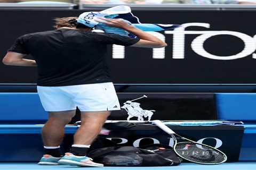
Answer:
[{"label": "tennis racket with white grip leaning against the bench", "polygon": [[[152,121],[166,133],[170,134],[174,140],[173,150],[181,158],[189,160],[197,164],[215,165],[226,162],[227,156],[220,150],[211,146],[197,143],[193,140],[181,137],[179,134],[173,132],[163,122],[159,120]],[[178,136],[183,142],[177,142],[175,135]]]}]

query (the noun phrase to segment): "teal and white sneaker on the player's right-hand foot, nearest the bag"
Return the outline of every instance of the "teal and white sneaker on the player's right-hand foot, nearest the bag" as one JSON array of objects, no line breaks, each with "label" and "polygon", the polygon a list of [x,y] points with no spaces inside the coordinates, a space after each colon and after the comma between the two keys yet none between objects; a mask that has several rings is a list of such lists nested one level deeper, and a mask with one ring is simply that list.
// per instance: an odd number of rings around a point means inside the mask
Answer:
[{"label": "teal and white sneaker on the player's right-hand foot, nearest the bag", "polygon": [[103,164],[92,162],[92,158],[86,156],[75,156],[71,153],[66,153],[65,156],[63,156],[58,163],[85,167],[103,167]]}]

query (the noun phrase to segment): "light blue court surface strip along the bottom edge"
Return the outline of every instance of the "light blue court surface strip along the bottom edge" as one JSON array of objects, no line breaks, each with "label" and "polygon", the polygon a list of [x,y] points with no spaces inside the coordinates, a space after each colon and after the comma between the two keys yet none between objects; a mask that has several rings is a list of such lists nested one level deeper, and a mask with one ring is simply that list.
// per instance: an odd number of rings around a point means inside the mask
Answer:
[{"label": "light blue court surface strip along the bottom edge", "polygon": [[220,165],[199,165],[194,163],[182,163],[178,166],[158,166],[158,167],[77,167],[77,166],[68,166],[68,165],[55,165],[55,166],[40,166],[37,165],[35,162],[9,162],[9,163],[0,163],[0,169],[3,170],[18,170],[18,169],[26,169],[26,170],[36,170],[36,169],[111,169],[111,170],[119,170],[119,169],[129,169],[129,170],[165,170],[165,169],[172,169],[172,170],[255,170],[256,169],[256,162],[236,162],[236,163],[224,163]]}]

